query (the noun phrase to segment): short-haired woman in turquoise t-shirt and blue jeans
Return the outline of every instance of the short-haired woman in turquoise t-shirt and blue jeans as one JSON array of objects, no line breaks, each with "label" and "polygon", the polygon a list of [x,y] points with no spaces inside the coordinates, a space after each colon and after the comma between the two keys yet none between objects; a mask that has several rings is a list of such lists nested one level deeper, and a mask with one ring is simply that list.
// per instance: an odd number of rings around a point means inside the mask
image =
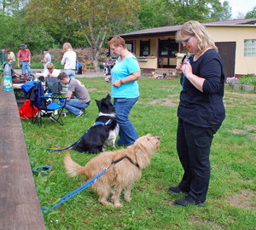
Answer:
[{"label": "short-haired woman in turquoise t-shirt and blue jeans", "polygon": [[128,116],[139,97],[137,79],[141,70],[136,57],[126,49],[122,37],[113,37],[108,45],[113,54],[119,56],[111,71],[113,106],[119,124],[117,145],[131,146],[138,135]]}]

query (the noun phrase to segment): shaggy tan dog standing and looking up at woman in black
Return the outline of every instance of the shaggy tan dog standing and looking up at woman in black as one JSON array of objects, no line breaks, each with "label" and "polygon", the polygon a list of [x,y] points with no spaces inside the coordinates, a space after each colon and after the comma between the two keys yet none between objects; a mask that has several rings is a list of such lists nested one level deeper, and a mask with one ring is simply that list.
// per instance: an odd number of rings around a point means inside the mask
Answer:
[{"label": "shaggy tan dog standing and looking up at woman in black", "polygon": [[[159,136],[144,135],[126,149],[102,152],[96,158],[90,159],[84,167],[73,162],[69,153],[64,159],[64,164],[68,175],[84,174],[88,180],[110,165],[107,172],[92,184],[92,188],[98,193],[99,202],[104,205],[119,207],[121,206],[119,202],[120,193],[125,189],[125,200],[131,201],[132,184],[141,178],[142,170],[150,164],[151,155],[159,150],[159,147]],[[117,162],[121,158],[123,159]],[[112,186],[114,191],[111,189]],[[110,195],[112,195],[113,204],[108,202]]]}]

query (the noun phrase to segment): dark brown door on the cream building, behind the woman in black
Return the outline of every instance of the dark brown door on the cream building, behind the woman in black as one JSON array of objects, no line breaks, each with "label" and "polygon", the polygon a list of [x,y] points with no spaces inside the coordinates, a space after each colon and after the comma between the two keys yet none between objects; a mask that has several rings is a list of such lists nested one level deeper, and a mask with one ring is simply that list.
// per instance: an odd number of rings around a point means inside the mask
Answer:
[{"label": "dark brown door on the cream building, behind the woman in black", "polygon": [[225,78],[235,76],[236,42],[215,43],[224,62]]}]

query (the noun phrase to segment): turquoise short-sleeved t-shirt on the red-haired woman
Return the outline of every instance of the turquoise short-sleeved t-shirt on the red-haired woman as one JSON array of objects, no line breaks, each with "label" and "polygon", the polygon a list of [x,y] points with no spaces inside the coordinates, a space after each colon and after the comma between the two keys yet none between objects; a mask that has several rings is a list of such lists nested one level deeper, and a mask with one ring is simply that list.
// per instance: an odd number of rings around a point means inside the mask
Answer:
[{"label": "turquoise short-sleeved t-shirt on the red-haired woman", "polygon": [[[112,83],[128,77],[133,72],[140,71],[140,66],[138,65],[137,59],[134,55],[127,55],[121,62],[119,62],[119,59],[116,61],[113,69],[111,70]],[[112,86],[113,98],[137,98],[138,96],[139,89],[137,81],[133,83],[121,84],[119,88]]]}]

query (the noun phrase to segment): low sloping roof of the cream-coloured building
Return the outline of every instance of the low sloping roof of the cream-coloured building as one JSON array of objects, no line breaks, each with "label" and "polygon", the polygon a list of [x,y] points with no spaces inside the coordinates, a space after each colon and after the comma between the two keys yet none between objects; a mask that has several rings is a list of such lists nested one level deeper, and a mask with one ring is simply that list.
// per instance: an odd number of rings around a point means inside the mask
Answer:
[{"label": "low sloping roof of the cream-coloured building", "polygon": [[[256,26],[256,18],[253,19],[243,19],[243,20],[220,20],[202,23],[205,26],[241,26],[241,25],[254,25]],[[150,29],[145,29],[137,32],[128,32],[124,34],[119,34],[120,37],[152,37],[156,35],[172,35],[177,32],[181,25],[177,26],[163,26],[155,27]]]}]

